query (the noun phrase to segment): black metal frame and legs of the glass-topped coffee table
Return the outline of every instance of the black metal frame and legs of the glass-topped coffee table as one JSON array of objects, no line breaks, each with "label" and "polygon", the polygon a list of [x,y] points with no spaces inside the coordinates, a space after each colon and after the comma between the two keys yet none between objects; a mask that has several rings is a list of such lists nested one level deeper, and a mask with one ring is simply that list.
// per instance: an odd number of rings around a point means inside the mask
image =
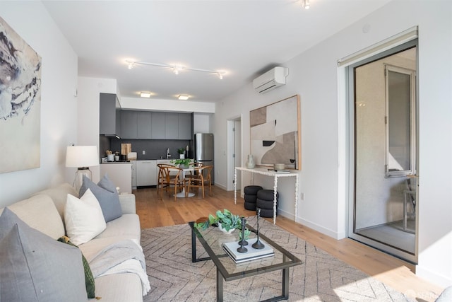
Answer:
[{"label": "black metal frame and legs of the glass-topped coffee table", "polygon": [[[254,269],[247,269],[243,272],[230,273],[227,271],[227,268],[220,261],[220,258],[222,258],[222,257],[229,257],[226,254],[226,252],[223,252],[220,255],[215,254],[215,252],[210,247],[210,245],[207,243],[205,238],[203,238],[203,236],[200,233],[200,231],[198,230],[198,228],[196,228],[194,226],[194,221],[189,222],[189,225],[191,227],[191,262],[212,260],[213,263],[215,264],[215,267],[217,267],[217,301],[218,302],[223,301],[223,281],[232,281],[232,280],[236,280],[236,279],[242,279],[244,277],[256,276],[258,274],[263,274],[266,272],[273,272],[273,271],[276,271],[279,269],[283,270],[282,294],[281,294],[281,296],[269,298],[269,299],[265,300],[265,302],[281,301],[281,300],[287,300],[289,298],[289,269],[290,269],[290,267],[293,267],[295,265],[302,264],[302,261],[299,260],[294,255],[292,255],[292,253],[290,253],[289,251],[280,247],[280,245],[274,243],[272,240],[268,239],[262,233],[259,233],[259,238],[261,238],[266,243],[271,245],[271,247],[274,250],[278,250],[279,252],[281,252],[281,254],[283,254],[283,262],[275,264],[275,265],[268,265],[268,266],[257,267]],[[256,233],[256,230],[254,228],[252,228],[251,226],[246,225],[246,227],[251,232]],[[221,234],[220,231],[218,231],[218,233]],[[201,245],[203,245],[203,248],[206,250],[209,257],[203,257],[203,258],[196,257],[196,238],[198,238]],[[233,262],[232,259],[230,261]]]}]

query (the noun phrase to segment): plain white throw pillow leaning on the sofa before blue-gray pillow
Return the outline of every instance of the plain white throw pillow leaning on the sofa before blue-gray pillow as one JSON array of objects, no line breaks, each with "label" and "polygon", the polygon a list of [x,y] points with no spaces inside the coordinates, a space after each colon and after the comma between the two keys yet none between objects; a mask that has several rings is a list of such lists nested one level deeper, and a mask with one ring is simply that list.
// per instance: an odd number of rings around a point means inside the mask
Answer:
[{"label": "plain white throw pillow leaning on the sofa before blue-gray pillow", "polygon": [[64,223],[66,233],[75,245],[88,242],[107,227],[100,204],[89,189],[80,199],[68,194]]}]

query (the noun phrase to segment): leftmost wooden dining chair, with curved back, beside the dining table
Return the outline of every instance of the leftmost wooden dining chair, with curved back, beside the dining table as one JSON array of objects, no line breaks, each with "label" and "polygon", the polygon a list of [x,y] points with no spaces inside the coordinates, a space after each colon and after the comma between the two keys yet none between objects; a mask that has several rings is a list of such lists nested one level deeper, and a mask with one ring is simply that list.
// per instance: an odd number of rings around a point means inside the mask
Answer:
[{"label": "leftmost wooden dining chair, with curved back, beside the dining table", "polygon": [[[182,188],[185,186],[185,180],[182,179],[182,169],[165,163],[157,164],[157,167],[159,169],[157,194],[160,196],[160,199],[163,199],[163,188],[165,188],[168,193],[171,193],[171,189],[174,187],[174,200],[177,200],[176,194],[178,193],[178,187],[179,190],[182,191]],[[185,195],[187,195],[186,192]]]}]

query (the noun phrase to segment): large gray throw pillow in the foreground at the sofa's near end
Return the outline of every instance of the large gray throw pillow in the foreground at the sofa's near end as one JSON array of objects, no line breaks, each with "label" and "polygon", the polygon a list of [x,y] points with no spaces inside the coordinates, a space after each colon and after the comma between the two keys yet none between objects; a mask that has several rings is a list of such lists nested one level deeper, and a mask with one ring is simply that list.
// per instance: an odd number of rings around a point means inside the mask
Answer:
[{"label": "large gray throw pillow in the foreground at the sofa's near end", "polygon": [[5,208],[0,216],[0,301],[88,301],[81,251],[31,228]]}]

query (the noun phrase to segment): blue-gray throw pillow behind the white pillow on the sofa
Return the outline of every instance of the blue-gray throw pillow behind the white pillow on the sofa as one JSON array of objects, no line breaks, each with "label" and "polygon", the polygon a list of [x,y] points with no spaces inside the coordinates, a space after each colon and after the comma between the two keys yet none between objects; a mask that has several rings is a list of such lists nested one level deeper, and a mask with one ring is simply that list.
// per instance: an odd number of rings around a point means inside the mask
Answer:
[{"label": "blue-gray throw pillow behind the white pillow on the sofa", "polygon": [[112,221],[122,216],[121,203],[119,202],[119,194],[114,186],[114,183],[109,180],[107,175],[97,183],[97,185],[83,176],[83,184],[80,188],[78,196],[83,196],[86,190],[90,189],[97,198],[104,214],[105,222]]}]

